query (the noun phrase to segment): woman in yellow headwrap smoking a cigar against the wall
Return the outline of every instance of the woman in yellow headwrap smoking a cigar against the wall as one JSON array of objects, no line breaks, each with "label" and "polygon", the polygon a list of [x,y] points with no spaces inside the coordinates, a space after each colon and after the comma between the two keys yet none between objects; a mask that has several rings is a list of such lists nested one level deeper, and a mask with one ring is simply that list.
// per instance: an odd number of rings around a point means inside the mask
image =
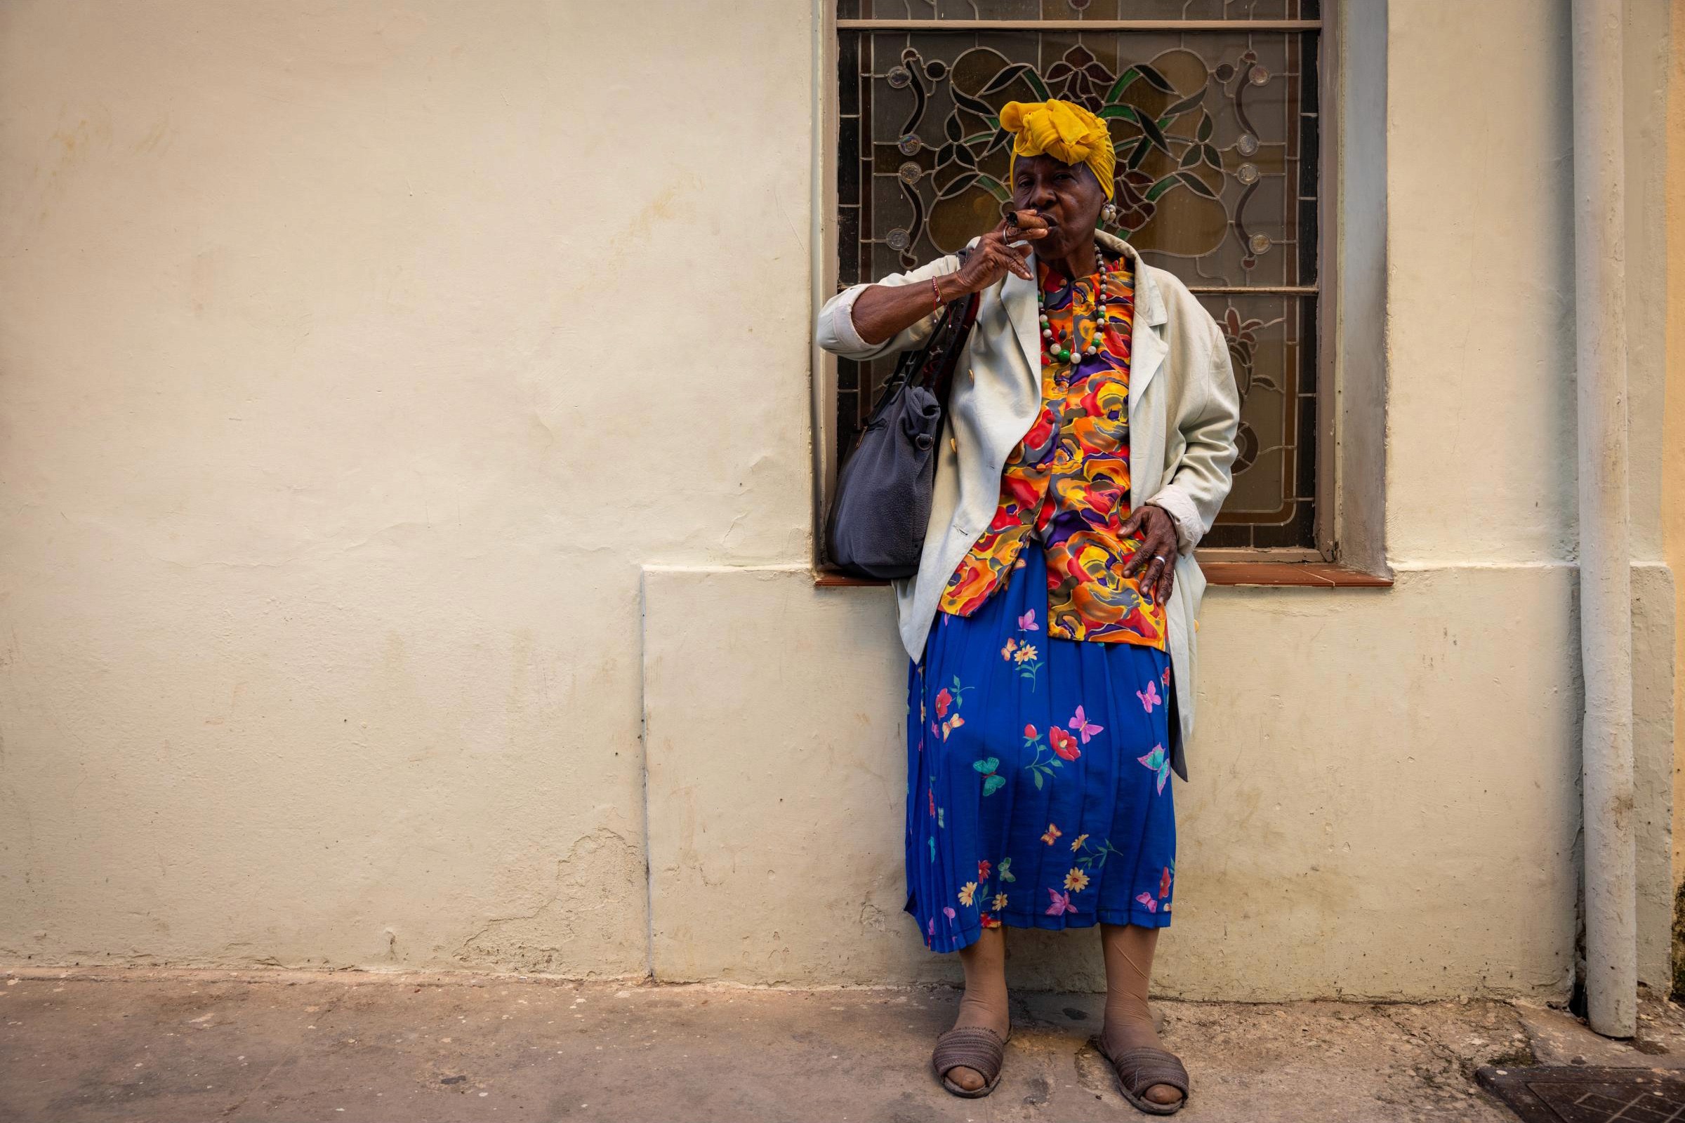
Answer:
[{"label": "woman in yellow headwrap smoking a cigar against the wall", "polygon": [[1147,1012],[1176,882],[1166,780],[1186,778],[1193,547],[1228,495],[1238,397],[1210,313],[1095,229],[1114,189],[1104,121],[1014,101],[1001,126],[1013,214],[964,256],[819,313],[826,350],[875,359],[981,293],[918,574],[896,583],[907,911],[966,971],[933,1067],[957,1096],[999,1083],[1003,926],[1099,924],[1100,1049],[1132,1104],[1171,1115],[1188,1074]]}]

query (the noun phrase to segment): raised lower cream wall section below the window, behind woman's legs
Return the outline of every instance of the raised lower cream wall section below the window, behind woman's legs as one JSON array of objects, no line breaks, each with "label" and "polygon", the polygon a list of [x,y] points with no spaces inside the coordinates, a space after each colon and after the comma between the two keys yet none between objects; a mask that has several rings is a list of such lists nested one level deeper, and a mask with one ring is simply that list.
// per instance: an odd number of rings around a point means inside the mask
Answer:
[{"label": "raised lower cream wall section below the window, behind woman's legs", "polygon": [[[1255,1000],[1564,987],[1577,764],[1540,746],[1575,721],[1570,581],[1560,566],[1471,566],[1410,571],[1390,593],[1215,591],[1200,753],[1174,788],[1176,876],[1195,889],[1159,945],[1158,987]],[[861,702],[905,690],[905,658],[878,641],[891,620],[881,599],[863,618],[846,593],[814,594],[805,571],[647,574],[657,975],[952,977],[900,911],[903,719]],[[1522,631],[1537,652],[1516,650]],[[792,673],[822,652],[846,670]],[[1104,985],[1092,933],[1011,933],[1011,946],[1021,983]]]}]

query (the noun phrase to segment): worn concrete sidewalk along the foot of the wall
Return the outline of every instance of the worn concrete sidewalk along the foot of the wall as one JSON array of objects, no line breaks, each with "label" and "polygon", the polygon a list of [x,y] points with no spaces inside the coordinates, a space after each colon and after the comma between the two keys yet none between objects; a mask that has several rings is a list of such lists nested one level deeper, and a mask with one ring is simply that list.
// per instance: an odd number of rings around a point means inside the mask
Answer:
[{"label": "worn concrete sidewalk along the foot of the wall", "polygon": [[[927,1059],[957,993],[452,975],[15,971],[0,1120],[1134,1120],[1087,1044],[1099,995],[1021,995],[1006,1078],[955,1099]],[[1188,1123],[1513,1116],[1488,1062],[1685,1067],[1678,1007],[1643,1037],[1506,1002],[1158,1005]]]}]

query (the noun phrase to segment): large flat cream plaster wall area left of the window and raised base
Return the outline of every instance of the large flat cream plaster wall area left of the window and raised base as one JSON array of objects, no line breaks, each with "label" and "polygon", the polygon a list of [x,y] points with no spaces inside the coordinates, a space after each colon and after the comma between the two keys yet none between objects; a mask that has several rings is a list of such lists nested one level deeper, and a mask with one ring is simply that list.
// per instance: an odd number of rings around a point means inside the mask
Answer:
[{"label": "large flat cream plaster wall area left of the window and raised base", "polygon": [[0,8],[8,956],[645,970],[639,566],[809,510],[807,13],[659,7]]}]

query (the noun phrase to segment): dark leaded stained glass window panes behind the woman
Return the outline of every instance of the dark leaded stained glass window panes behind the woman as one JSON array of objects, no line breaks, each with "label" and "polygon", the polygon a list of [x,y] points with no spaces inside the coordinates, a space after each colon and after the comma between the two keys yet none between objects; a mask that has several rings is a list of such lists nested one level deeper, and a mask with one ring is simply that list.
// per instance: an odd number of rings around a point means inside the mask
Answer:
[{"label": "dark leaded stained glass window panes behind the woman", "polygon": [[[1314,549],[1319,15],[1316,0],[839,0],[839,288],[994,227],[1008,101],[1085,104],[1117,148],[1105,229],[1228,338],[1240,456],[1203,546]],[[837,362],[837,448],[891,369]]]}]

